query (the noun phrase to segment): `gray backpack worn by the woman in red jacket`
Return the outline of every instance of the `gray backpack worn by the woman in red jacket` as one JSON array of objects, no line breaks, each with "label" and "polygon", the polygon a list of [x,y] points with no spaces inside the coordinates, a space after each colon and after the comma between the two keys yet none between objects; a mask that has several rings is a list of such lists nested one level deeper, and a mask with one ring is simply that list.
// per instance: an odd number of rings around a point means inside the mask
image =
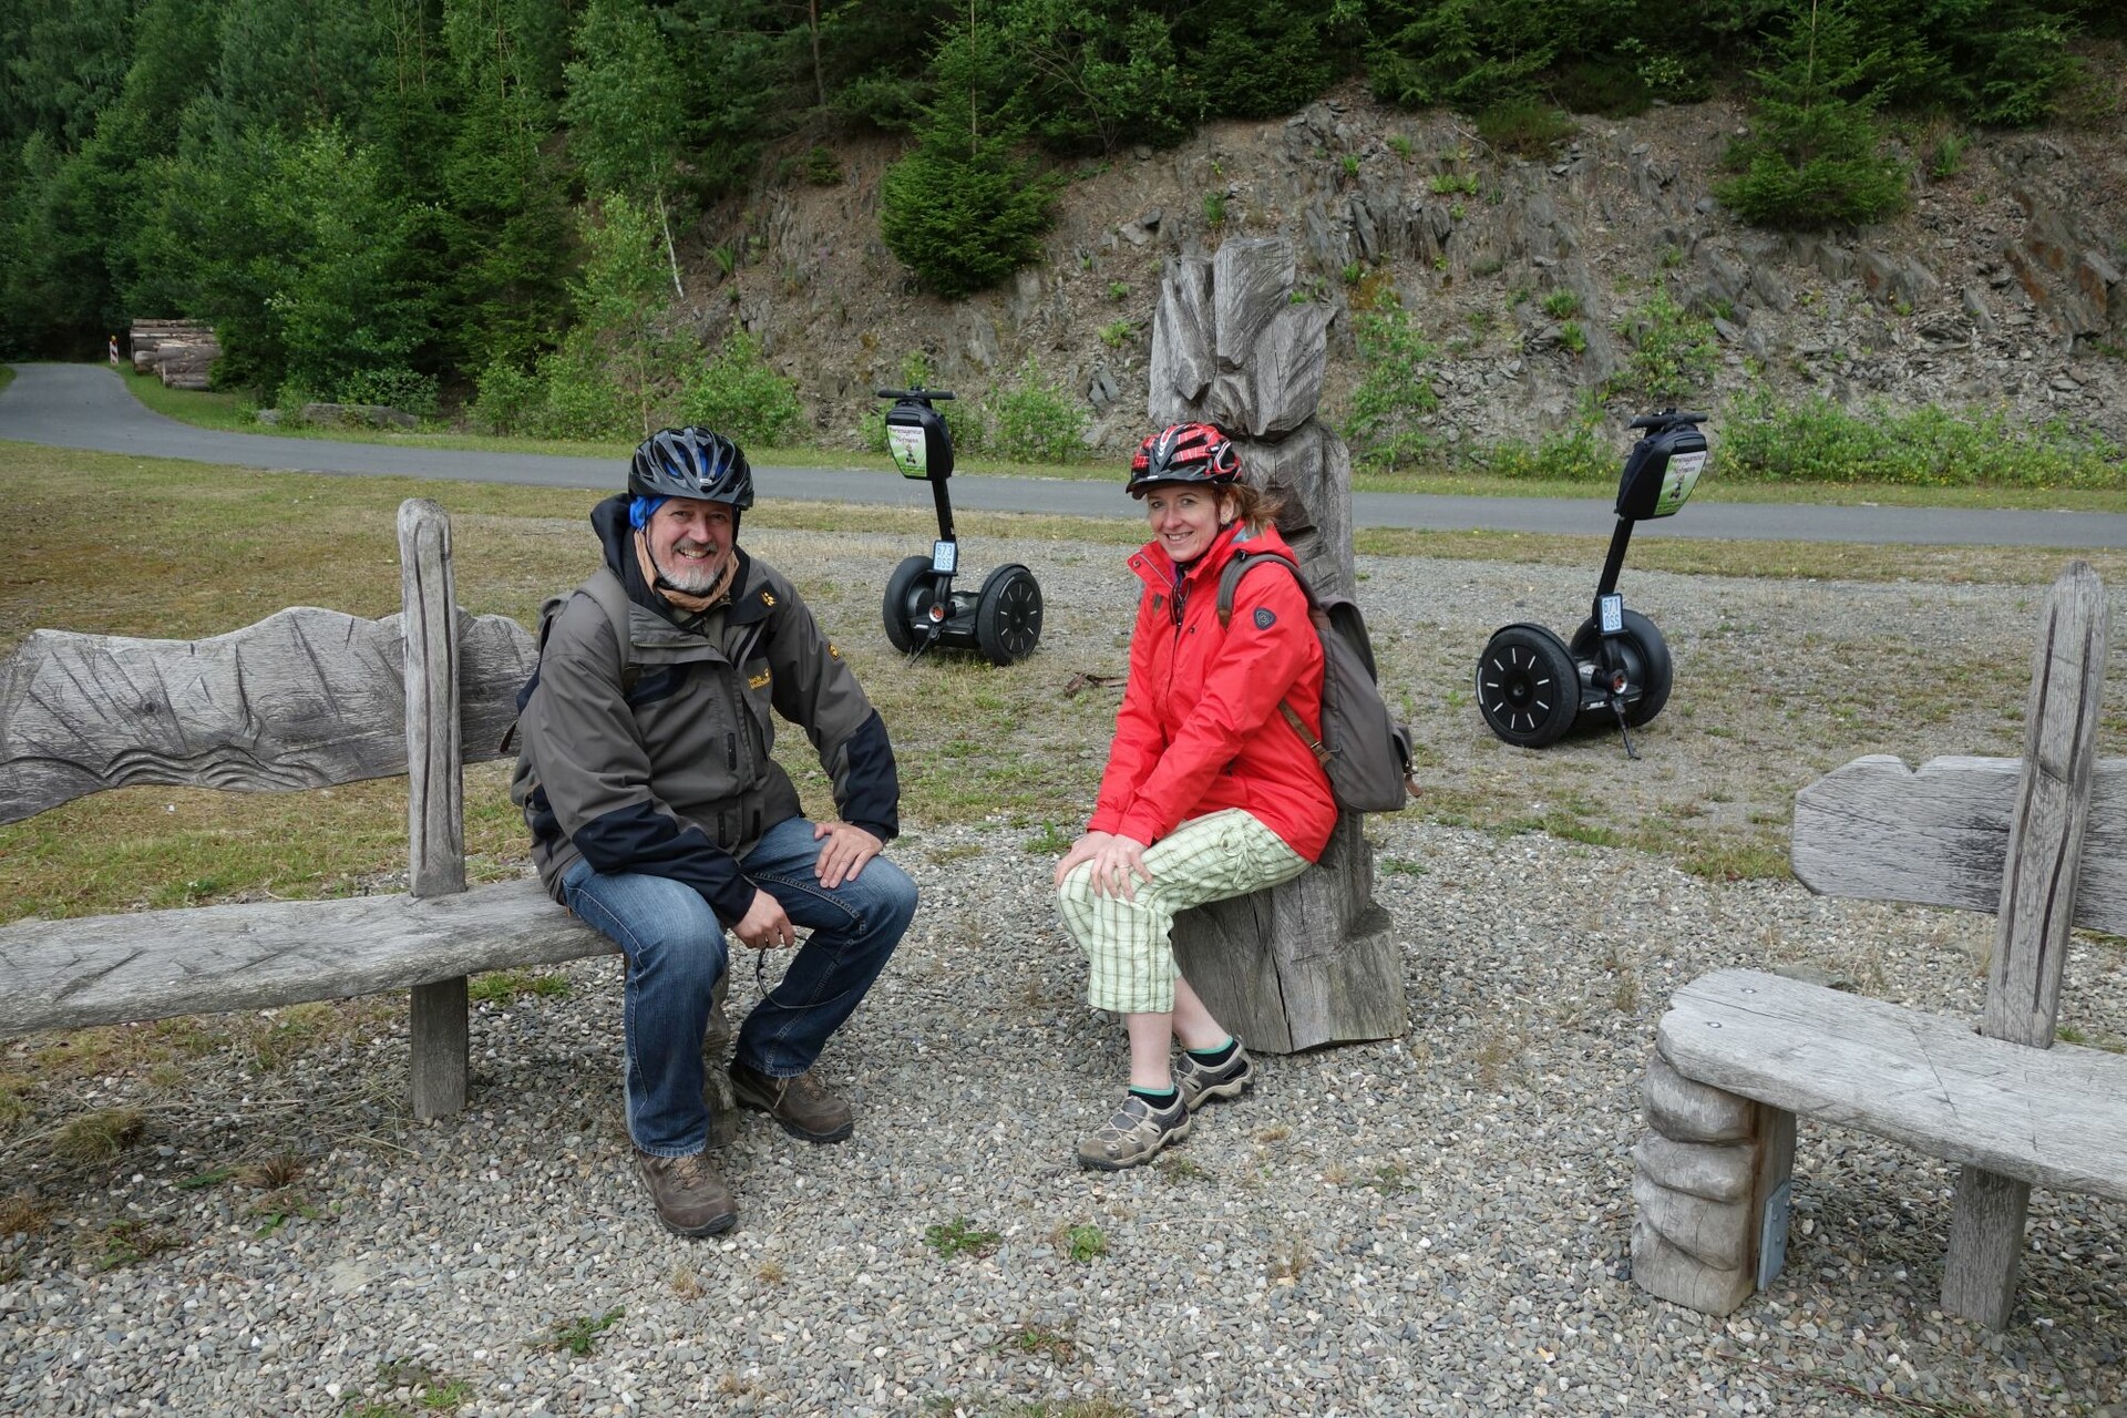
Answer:
[{"label": "gray backpack worn by the woman in red jacket", "polygon": [[1219,574],[1219,625],[1234,619],[1234,587],[1263,561],[1276,561],[1300,583],[1308,619],[1323,642],[1323,736],[1308,733],[1306,721],[1285,699],[1278,699],[1278,712],[1323,765],[1340,810],[1397,812],[1404,797],[1417,793],[1410,782],[1410,729],[1395,723],[1380,697],[1374,646],[1359,606],[1344,595],[1317,595],[1287,555],[1238,551]]}]

